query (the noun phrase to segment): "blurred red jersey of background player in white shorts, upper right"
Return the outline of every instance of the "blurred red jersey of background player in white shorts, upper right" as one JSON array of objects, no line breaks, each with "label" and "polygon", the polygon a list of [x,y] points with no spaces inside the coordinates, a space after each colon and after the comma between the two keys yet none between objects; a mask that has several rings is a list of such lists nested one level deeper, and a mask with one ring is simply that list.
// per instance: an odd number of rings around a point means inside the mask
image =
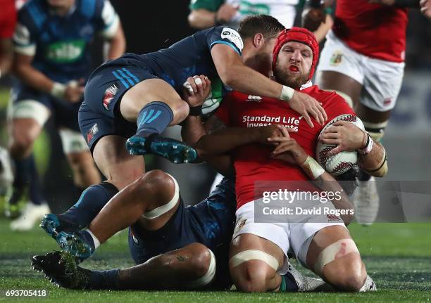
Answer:
[{"label": "blurred red jersey of background player in white shorts, upper right", "polygon": [[367,0],[337,0],[332,30],[351,49],[370,58],[403,62],[407,9]]}]

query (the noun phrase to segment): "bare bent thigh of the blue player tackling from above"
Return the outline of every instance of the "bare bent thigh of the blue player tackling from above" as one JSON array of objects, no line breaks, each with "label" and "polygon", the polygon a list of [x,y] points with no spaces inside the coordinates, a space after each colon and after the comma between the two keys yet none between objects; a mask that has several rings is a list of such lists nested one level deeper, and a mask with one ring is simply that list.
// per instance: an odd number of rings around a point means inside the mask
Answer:
[{"label": "bare bent thigh of the blue player tackling from above", "polygon": [[135,122],[139,111],[154,101],[168,104],[174,112],[176,107],[183,106],[185,102],[168,82],[162,79],[145,79],[126,91],[121,98],[121,115],[125,120]]}]

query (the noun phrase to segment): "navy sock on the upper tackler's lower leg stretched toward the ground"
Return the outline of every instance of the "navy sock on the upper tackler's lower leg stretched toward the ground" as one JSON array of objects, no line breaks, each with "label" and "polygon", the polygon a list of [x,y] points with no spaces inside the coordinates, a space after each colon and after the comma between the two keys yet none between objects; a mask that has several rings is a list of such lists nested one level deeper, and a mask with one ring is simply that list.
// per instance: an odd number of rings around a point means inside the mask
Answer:
[{"label": "navy sock on the upper tackler's lower leg stretched toward the ground", "polygon": [[118,189],[109,182],[92,185],[82,192],[80,200],[73,207],[60,214],[59,217],[84,228],[117,193]]}]

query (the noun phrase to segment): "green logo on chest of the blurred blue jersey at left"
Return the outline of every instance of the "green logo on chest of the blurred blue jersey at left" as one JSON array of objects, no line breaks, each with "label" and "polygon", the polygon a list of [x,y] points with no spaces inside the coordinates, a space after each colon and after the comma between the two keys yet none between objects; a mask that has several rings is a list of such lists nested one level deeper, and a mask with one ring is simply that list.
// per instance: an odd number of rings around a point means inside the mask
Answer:
[{"label": "green logo on chest of the blurred blue jersey at left", "polygon": [[61,41],[49,44],[46,57],[57,63],[71,63],[82,57],[84,49],[84,40]]}]

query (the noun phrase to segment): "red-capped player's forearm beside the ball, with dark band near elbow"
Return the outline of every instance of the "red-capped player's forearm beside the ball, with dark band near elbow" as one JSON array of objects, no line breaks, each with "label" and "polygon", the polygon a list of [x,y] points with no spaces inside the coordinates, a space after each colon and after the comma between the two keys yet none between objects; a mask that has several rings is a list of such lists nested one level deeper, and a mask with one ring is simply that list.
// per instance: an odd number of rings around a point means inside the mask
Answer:
[{"label": "red-capped player's forearm beside the ball, with dark band near elbow", "polygon": [[367,155],[359,155],[361,168],[371,176],[382,177],[387,174],[387,160],[385,148],[377,142]]}]

